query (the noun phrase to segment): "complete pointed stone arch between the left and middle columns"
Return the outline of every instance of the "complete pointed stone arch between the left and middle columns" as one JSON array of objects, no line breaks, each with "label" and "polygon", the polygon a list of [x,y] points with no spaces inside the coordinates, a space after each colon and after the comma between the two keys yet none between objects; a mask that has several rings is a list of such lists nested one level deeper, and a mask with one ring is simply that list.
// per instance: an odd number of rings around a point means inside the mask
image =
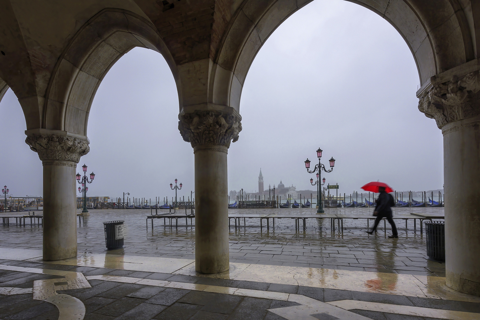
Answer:
[{"label": "complete pointed stone arch between the left and middle columns", "polygon": [[163,55],[181,103],[177,67],[155,26],[133,12],[104,9],[80,28],[60,56],[48,83],[41,127],[86,136],[98,86],[111,66],[133,47]]}]

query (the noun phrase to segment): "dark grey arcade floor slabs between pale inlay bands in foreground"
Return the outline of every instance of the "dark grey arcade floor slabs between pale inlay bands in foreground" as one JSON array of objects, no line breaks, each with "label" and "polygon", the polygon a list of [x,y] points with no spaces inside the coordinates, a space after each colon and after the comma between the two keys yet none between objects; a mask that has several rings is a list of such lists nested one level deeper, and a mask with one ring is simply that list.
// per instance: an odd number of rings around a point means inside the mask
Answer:
[{"label": "dark grey arcade floor slabs between pale inlay bands in foreground", "polygon": [[[293,293],[309,296],[324,302],[352,299],[403,306],[480,312],[480,305],[470,302],[25,261],[0,260],[0,263],[31,268],[82,272],[85,276],[110,274]],[[32,278],[32,275],[36,277]],[[27,288],[32,287],[34,280],[48,279],[50,277],[51,276],[44,274],[0,270],[0,286],[8,286],[12,280],[15,280],[15,286]],[[282,320],[284,318],[267,311],[267,309],[297,305],[294,302],[140,284],[101,280],[89,280],[89,283],[92,286],[91,288],[59,291],[59,293],[75,296],[84,303],[86,309],[85,320]],[[435,320],[433,318],[396,315],[384,312],[351,311],[373,320]],[[56,320],[58,319],[58,310],[47,302],[33,300],[32,294],[0,296],[0,319]]]}]

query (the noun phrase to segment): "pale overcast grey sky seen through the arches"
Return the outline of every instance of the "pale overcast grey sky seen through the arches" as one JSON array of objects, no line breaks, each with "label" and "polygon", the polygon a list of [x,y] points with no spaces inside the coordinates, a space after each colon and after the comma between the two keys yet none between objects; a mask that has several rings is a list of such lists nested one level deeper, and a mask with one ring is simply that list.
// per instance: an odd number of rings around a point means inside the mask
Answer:
[{"label": "pale overcast grey sky seen through the arches", "polygon": [[[315,0],[287,19],[253,61],[240,102],[242,128],[228,151],[229,190],[256,191],[280,179],[311,189],[315,151],[336,166],[325,175],[341,193],[380,180],[395,190],[441,189],[443,145],[433,119],[417,108],[415,61],[383,18],[343,0]],[[12,195],[42,194],[42,165],[24,143],[22,109],[9,90],[0,103],[3,167]],[[135,48],[108,72],[93,102],[83,156],[96,173],[90,196],[155,199],[169,184],[193,186],[193,152],[178,131],[178,95],[158,53]]]}]

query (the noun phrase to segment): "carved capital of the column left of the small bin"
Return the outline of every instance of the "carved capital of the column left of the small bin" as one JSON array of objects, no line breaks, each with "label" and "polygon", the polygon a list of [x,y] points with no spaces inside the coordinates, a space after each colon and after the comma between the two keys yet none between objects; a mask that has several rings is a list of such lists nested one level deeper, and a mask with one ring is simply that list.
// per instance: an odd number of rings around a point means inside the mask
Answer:
[{"label": "carved capital of the column left of the small bin", "polygon": [[78,163],[90,151],[88,141],[57,134],[30,134],[25,139],[40,160],[60,160]]}]

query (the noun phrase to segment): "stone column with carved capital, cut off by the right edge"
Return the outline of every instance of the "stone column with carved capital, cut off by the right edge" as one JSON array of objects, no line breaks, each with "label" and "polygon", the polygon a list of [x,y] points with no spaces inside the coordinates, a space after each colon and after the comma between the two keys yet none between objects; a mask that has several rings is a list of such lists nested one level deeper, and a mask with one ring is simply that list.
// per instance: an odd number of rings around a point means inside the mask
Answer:
[{"label": "stone column with carved capital, cut off by the right edge", "polygon": [[446,284],[480,296],[480,76],[456,74],[466,65],[432,77],[419,109],[444,135]]}]

